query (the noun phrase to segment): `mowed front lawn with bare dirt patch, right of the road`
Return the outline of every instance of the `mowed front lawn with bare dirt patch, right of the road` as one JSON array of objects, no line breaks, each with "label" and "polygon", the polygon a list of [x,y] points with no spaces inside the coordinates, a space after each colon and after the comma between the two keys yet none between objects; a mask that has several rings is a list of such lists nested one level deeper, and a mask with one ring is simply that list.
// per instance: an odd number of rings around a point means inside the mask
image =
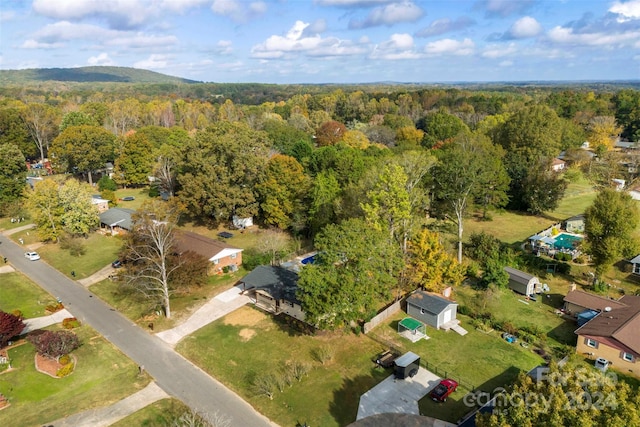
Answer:
[{"label": "mowed front lawn with bare dirt patch, right of the road", "polygon": [[[380,345],[364,335],[304,335],[281,322],[243,307],[185,338],[177,350],[281,426],[355,421],[360,395],[389,374],[371,361]],[[325,365],[313,356],[323,346],[335,352]],[[302,381],[277,391],[273,400],[253,391],[254,378],[277,375],[292,362],[311,367]]]}]

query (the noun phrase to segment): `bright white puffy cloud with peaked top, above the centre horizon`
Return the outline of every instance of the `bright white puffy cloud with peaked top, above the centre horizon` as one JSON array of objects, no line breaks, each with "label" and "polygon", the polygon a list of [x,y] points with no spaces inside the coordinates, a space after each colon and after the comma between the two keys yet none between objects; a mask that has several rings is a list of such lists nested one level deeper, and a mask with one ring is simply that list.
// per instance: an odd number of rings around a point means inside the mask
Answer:
[{"label": "bright white puffy cloud with peaked top, above the centre horizon", "polygon": [[296,21],[287,34],[271,36],[263,43],[253,46],[251,56],[261,59],[283,58],[288,54],[302,53],[307,56],[346,56],[363,53],[361,46],[336,37],[322,38],[319,35],[304,37],[308,23]]}]

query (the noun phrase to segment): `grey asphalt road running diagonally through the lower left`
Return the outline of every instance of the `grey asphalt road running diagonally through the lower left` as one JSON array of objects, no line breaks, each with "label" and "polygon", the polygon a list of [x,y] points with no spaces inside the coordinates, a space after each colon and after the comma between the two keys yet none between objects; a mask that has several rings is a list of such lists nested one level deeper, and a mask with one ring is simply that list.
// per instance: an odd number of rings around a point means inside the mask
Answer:
[{"label": "grey asphalt road running diagonally through the lower left", "polygon": [[[273,426],[237,394],[176,353],[43,260],[29,261],[24,247],[0,235],[0,256],[23,272],[81,322],[98,331],[155,379],[169,395],[190,408],[229,419],[231,426]],[[2,260],[0,259],[0,262]]]}]

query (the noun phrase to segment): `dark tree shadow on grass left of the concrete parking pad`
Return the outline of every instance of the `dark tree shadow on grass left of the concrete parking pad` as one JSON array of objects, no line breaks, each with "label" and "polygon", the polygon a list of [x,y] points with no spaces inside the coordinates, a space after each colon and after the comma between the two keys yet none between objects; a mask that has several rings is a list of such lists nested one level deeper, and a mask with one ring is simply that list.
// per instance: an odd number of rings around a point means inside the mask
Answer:
[{"label": "dark tree shadow on grass left of the concrete parking pad", "polygon": [[336,423],[345,426],[354,422],[358,416],[360,396],[388,377],[389,372],[372,368],[370,375],[344,379],[342,387],[334,391],[333,401],[329,404],[329,412]]}]

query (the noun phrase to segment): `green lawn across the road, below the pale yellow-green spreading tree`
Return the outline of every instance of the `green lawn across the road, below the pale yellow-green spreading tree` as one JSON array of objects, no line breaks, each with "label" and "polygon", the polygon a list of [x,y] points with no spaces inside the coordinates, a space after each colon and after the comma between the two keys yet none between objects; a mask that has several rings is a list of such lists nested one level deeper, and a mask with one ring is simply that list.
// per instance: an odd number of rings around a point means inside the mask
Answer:
[{"label": "green lawn across the road, below the pale yellow-green spreading tree", "polygon": [[54,268],[71,277],[75,271],[76,279],[91,276],[96,271],[111,264],[118,257],[122,240],[118,237],[92,233],[82,239],[84,255],[73,256],[60,245],[48,244],[37,249],[38,253]]}]

